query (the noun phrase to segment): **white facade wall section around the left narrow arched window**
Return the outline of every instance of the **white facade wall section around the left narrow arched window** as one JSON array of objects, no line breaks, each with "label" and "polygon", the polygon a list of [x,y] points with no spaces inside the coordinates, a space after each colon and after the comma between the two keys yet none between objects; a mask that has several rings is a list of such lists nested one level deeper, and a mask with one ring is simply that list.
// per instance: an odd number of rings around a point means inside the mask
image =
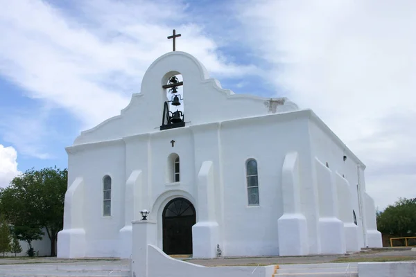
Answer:
[{"label": "white facade wall section around the left narrow arched window", "polygon": [[[93,145],[88,151],[69,152],[68,183],[83,177],[85,256],[116,257],[119,230],[124,226],[125,145],[123,141]],[[103,177],[112,179],[111,216],[103,216]],[[72,205],[79,206],[78,199]],[[74,220],[74,219],[73,219]],[[64,226],[67,228],[67,226]],[[79,228],[79,226],[78,226]],[[59,240],[59,238],[58,238]],[[58,242],[58,251],[60,251]],[[71,257],[74,258],[74,257]]]}]

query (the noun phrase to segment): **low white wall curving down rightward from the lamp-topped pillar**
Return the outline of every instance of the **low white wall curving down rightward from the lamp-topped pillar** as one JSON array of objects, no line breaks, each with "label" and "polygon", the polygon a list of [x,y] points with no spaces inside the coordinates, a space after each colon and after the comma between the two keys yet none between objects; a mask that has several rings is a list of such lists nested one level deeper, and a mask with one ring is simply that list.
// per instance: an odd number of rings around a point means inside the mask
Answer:
[{"label": "low white wall curving down rightward from the lamp-topped pillar", "polygon": [[[255,271],[254,271],[255,269]],[[147,277],[270,277],[274,274],[273,265],[267,267],[203,267],[182,260],[175,260],[153,245],[148,245],[148,274]],[[253,273],[254,271],[254,273]]]}]

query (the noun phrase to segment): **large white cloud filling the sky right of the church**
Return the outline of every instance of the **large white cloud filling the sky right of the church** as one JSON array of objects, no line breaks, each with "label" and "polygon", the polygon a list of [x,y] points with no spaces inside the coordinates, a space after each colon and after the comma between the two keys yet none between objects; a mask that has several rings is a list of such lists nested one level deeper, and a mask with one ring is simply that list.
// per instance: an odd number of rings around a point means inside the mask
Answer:
[{"label": "large white cloud filling the sky right of the church", "polygon": [[238,9],[252,51],[272,67],[266,78],[367,164],[376,205],[416,197],[416,2],[253,0]]}]

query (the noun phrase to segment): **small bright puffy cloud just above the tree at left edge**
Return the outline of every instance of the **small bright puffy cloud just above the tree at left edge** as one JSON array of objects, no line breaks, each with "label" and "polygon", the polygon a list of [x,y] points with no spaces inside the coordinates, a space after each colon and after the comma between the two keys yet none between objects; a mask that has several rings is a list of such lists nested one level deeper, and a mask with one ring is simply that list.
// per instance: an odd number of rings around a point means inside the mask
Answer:
[{"label": "small bright puffy cloud just above the tree at left edge", "polygon": [[17,152],[11,146],[0,144],[0,188],[6,188],[10,181],[21,172],[17,170]]}]

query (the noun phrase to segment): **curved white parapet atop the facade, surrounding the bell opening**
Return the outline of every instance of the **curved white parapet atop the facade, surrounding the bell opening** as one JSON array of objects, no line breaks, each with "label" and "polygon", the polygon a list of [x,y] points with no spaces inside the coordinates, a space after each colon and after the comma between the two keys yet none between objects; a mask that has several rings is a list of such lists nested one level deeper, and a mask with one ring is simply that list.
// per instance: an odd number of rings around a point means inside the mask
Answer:
[{"label": "curved white parapet atop the facade, surrounding the bell opening", "polygon": [[209,78],[205,66],[188,53],[166,53],[153,62],[141,82],[141,92],[132,95],[130,103],[103,123],[80,134],[73,145],[123,139],[125,136],[157,132],[162,124],[166,89],[172,75],[182,75],[184,82],[184,118],[187,125],[222,122],[244,117],[295,111],[295,103],[286,98],[263,98],[236,94],[223,89]]}]

